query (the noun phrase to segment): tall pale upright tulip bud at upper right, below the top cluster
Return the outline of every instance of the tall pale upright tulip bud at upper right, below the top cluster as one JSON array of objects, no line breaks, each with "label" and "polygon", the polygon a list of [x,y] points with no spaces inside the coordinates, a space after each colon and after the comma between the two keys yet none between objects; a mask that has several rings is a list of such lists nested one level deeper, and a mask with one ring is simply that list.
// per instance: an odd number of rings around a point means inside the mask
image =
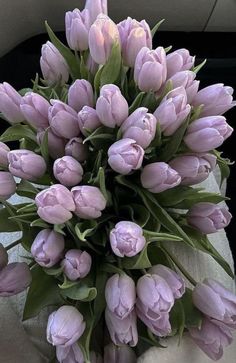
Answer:
[{"label": "tall pale upright tulip bud at upper right, below the top cluster", "polygon": [[144,47],[140,50],[134,66],[134,80],[141,91],[158,91],[166,80],[166,72],[164,48],[150,50]]}]

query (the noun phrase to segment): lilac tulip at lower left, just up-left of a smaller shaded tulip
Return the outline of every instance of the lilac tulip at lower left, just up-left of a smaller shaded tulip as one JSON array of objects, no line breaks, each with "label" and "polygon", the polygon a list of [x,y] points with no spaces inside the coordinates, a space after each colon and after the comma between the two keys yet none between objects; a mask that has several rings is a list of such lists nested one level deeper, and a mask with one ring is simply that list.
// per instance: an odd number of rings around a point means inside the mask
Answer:
[{"label": "lilac tulip at lower left, just up-left of a smaller shaded tulip", "polygon": [[65,240],[62,234],[51,229],[40,231],[32,246],[31,254],[38,265],[52,267],[62,258]]}]

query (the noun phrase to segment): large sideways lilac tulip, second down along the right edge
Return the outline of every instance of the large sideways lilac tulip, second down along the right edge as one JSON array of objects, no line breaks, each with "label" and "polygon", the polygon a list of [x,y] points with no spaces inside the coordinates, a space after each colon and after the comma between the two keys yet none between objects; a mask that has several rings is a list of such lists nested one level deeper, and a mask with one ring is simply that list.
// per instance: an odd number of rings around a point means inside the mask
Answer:
[{"label": "large sideways lilac tulip, second down along the right edge", "polygon": [[184,142],[192,151],[206,152],[222,145],[232,132],[225,117],[202,117],[189,125]]}]

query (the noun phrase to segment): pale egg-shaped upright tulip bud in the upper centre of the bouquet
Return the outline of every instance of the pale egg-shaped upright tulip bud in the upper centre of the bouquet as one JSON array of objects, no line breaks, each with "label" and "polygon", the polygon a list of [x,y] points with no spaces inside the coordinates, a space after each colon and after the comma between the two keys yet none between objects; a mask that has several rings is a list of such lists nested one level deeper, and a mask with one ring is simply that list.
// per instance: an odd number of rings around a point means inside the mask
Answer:
[{"label": "pale egg-shaped upright tulip bud in the upper centre of the bouquet", "polygon": [[103,125],[114,128],[120,126],[129,115],[129,105],[119,87],[106,84],[101,88],[96,111]]}]

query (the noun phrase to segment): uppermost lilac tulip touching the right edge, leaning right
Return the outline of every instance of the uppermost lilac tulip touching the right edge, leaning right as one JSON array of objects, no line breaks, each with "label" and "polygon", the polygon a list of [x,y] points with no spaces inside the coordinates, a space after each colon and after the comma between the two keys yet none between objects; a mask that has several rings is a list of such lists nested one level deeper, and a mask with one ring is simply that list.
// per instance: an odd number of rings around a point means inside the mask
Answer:
[{"label": "uppermost lilac tulip touching the right edge, leaning right", "polygon": [[193,99],[193,106],[203,105],[201,116],[222,115],[235,106],[233,88],[223,83],[213,84],[201,89]]}]

